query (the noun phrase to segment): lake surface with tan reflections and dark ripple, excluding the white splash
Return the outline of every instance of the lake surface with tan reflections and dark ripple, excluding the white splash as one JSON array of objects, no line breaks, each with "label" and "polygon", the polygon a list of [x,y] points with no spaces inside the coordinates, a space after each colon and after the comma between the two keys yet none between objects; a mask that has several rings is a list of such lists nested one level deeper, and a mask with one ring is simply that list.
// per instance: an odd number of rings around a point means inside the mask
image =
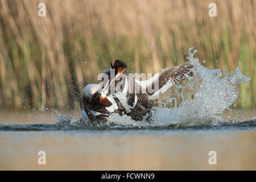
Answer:
[{"label": "lake surface with tan reflections and dark ripple, excluding the white splash", "polygon": [[[54,111],[1,111],[0,170],[256,169],[256,119],[200,126],[98,125],[69,123],[60,115],[65,118]],[[77,117],[81,113],[74,111],[72,121]],[[46,165],[38,164],[39,151],[46,152]],[[209,151],[216,151],[216,165],[208,163]]]}]

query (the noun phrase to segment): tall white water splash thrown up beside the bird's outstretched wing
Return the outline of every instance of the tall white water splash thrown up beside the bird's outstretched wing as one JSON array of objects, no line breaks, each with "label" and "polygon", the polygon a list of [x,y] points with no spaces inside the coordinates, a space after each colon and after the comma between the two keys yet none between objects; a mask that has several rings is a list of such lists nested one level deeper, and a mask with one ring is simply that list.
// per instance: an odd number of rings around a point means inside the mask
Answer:
[{"label": "tall white water splash thrown up beside the bird's outstretched wing", "polygon": [[[186,75],[188,85],[178,85],[175,88],[176,92],[181,89],[181,104],[171,108],[155,107],[150,125],[202,126],[227,122],[223,118],[224,110],[229,109],[238,98],[238,86],[241,83],[249,83],[250,77],[240,72],[239,64],[236,71],[231,74],[224,72],[222,75],[221,69],[208,69],[201,65],[199,59],[194,57],[197,50],[192,53],[192,49],[189,49],[187,59],[194,66],[193,76]],[[193,96],[193,99],[188,95]],[[174,99],[169,98],[167,102]],[[148,125],[118,114],[110,116],[108,121],[121,125]]]}]

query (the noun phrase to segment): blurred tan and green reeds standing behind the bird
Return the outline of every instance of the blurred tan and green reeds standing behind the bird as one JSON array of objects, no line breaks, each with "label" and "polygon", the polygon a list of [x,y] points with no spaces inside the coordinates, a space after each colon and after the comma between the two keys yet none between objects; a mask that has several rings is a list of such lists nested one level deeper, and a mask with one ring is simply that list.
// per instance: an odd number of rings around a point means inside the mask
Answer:
[{"label": "blurred tan and green reeds standing behind the bird", "polygon": [[210,2],[1,0],[0,107],[78,108],[82,88],[110,61],[158,72],[183,63],[191,46],[208,68],[231,72],[242,59],[251,81],[241,98],[254,107],[256,2],[214,1],[217,17],[208,16]]}]

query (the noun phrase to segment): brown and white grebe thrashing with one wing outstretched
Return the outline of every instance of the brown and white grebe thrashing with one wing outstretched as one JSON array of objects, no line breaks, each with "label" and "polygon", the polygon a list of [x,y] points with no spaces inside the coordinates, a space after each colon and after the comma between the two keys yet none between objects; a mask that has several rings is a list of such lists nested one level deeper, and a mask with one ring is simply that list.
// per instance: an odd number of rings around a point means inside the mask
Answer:
[{"label": "brown and white grebe thrashing with one wing outstretched", "polygon": [[[176,67],[169,67],[160,70],[154,77],[146,81],[138,81],[130,77],[126,72],[127,64],[116,60],[111,68],[104,71],[109,76],[108,84],[102,88],[101,85],[86,85],[82,93],[82,102],[86,114],[91,121],[106,122],[111,113],[119,115],[127,114],[135,121],[145,119],[150,121],[152,114],[152,99],[158,94],[166,92],[168,88],[179,84],[186,77],[192,65],[184,63]],[[110,78],[110,72],[114,69],[114,78]],[[118,79],[122,76],[122,79]],[[155,83],[158,85],[155,85]],[[114,88],[111,93],[111,86],[122,83],[121,89]],[[126,85],[127,84],[127,85]],[[156,87],[157,86],[157,87]],[[132,89],[132,92],[129,88]],[[145,91],[145,92],[144,92]]]}]

